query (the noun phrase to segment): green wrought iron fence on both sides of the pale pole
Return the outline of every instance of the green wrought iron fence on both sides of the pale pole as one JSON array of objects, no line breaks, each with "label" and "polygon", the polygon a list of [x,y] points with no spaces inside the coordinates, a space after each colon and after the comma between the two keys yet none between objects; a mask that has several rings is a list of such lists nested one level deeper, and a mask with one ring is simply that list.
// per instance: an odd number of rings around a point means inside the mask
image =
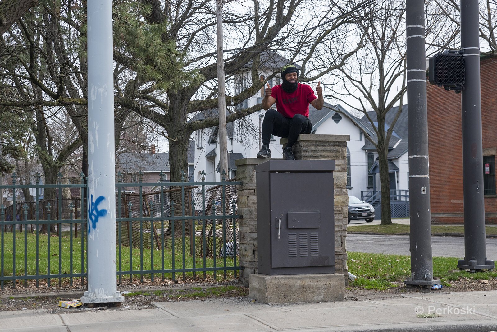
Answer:
[{"label": "green wrought iron fence on both sides of the pale pole", "polygon": [[[224,278],[237,276],[238,254],[237,189],[241,182],[166,182],[116,183],[117,278],[130,281],[186,277]],[[82,177],[83,179],[83,177]],[[86,202],[64,198],[63,189],[86,185],[36,184],[0,186],[0,189],[33,188],[33,202],[13,204],[0,209],[1,271],[0,285],[15,287],[34,280],[36,287],[51,285],[58,278],[73,284],[86,277]],[[54,189],[51,200],[39,199],[40,189]],[[64,278],[64,279],[63,279]],[[79,280],[79,279],[78,279]]]}]

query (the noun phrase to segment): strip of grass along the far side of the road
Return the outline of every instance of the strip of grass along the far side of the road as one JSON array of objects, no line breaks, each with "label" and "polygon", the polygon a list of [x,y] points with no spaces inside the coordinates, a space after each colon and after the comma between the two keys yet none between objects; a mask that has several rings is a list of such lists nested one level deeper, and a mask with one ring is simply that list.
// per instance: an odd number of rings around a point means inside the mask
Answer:
[{"label": "strip of grass along the far side of the road", "polygon": [[[357,233],[357,232],[368,232],[377,233],[385,235],[398,235],[398,234],[409,234],[409,225],[403,224],[392,224],[392,225],[363,225],[363,226],[352,226],[347,228],[347,233]],[[497,236],[497,227],[486,226],[485,232],[487,235]],[[443,233],[456,233],[464,235],[464,226],[443,226],[443,225],[431,225],[431,234],[443,234]]]}]

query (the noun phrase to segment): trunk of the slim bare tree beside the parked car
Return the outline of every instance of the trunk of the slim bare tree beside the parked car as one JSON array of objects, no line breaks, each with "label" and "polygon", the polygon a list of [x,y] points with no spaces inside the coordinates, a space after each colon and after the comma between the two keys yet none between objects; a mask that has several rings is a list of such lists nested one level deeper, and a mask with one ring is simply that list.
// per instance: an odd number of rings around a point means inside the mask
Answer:
[{"label": "trunk of the slim bare tree beside the parked car", "polygon": [[378,162],[380,166],[380,190],[381,190],[381,224],[391,225],[392,216],[390,211],[390,176],[388,173],[388,145],[385,144],[383,135],[378,137]]}]

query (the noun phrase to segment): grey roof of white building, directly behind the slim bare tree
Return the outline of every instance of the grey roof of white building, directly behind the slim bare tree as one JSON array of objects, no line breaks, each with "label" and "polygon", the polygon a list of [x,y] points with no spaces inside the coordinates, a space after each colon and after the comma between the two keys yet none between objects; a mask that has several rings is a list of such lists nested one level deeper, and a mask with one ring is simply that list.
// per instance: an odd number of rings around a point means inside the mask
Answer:
[{"label": "grey roof of white building, directly behind the slim bare tree", "polygon": [[[399,106],[392,107],[390,111],[388,111],[386,117],[385,117],[385,130],[388,130],[390,127],[390,124],[393,122],[397,111],[399,110]],[[376,122],[376,112],[375,111],[369,111],[367,113],[371,120],[377,124]],[[394,127],[394,131],[392,133],[392,136],[390,138],[389,142],[389,153],[388,153],[388,159],[397,159],[404,155],[408,149],[409,149],[409,138],[408,138],[408,105],[403,105],[402,106],[402,112],[397,119],[397,122]],[[367,128],[370,129],[374,133],[373,126],[369,122],[368,118],[366,116],[363,116],[360,121],[366,126]],[[377,137],[376,134],[371,135],[371,137],[376,141]],[[376,150],[375,146],[368,140],[366,139],[366,143],[362,147],[363,150]]]}]

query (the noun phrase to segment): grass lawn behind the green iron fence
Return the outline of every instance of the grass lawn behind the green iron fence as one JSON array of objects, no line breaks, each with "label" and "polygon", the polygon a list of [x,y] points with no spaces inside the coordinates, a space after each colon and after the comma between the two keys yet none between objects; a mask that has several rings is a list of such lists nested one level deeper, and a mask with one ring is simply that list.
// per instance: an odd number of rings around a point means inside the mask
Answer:
[{"label": "grass lawn behind the green iron fence", "polygon": [[[196,240],[197,254],[195,256],[195,266],[197,268],[203,267],[204,258],[200,257],[198,252],[201,252],[201,241]],[[12,233],[4,233],[3,237],[3,275],[11,276],[14,262],[13,262],[13,237]],[[27,234],[27,274],[35,275],[36,274],[36,234]],[[73,239],[73,245],[71,247],[71,242],[69,237],[61,237],[61,255],[59,256],[59,238],[56,236],[50,237],[50,256],[48,256],[48,236],[46,234],[40,234],[38,238],[38,274],[47,274],[48,270],[48,262],[50,261],[50,273],[58,274],[58,273],[70,273],[71,271],[71,259],[70,254],[71,251],[73,253],[73,273],[81,273],[81,265],[82,265],[82,250],[81,250],[81,238]],[[185,242],[185,268],[193,267],[193,257],[189,255],[189,242]],[[130,248],[121,246],[121,270],[129,271],[130,270],[130,257],[132,260],[132,270],[150,270],[152,266],[154,269],[162,269],[162,250],[150,248],[144,248],[143,254],[140,252],[139,248],[132,248],[130,255]],[[182,268],[183,267],[183,258],[182,258],[182,241],[181,239],[176,239],[175,241],[175,254],[174,254],[174,268]],[[116,261],[117,261],[117,270],[119,271],[119,248],[116,250]],[[152,259],[152,251],[153,251],[153,259]],[[219,247],[216,251],[219,251]],[[50,257],[50,260],[49,260]],[[86,243],[84,243],[83,248],[83,257],[86,259]],[[141,258],[143,258],[143,264],[141,263]],[[25,259],[25,250],[24,250],[24,233],[16,233],[15,237],[15,275],[24,275],[24,259]],[[59,259],[61,260],[61,270],[59,272]],[[206,267],[214,266],[214,258],[212,256],[206,257],[205,259]],[[172,250],[170,248],[170,239],[168,241],[168,246],[164,249],[164,268],[171,269],[173,263],[172,258]],[[238,263],[238,262],[237,262]],[[85,262],[83,262],[85,264]],[[216,258],[216,266],[224,266],[224,258],[217,257]],[[233,258],[226,257],[226,266],[233,266]],[[86,268],[84,268],[86,271]],[[233,275],[233,271],[228,271],[228,275]],[[223,271],[217,271],[217,276],[223,276]],[[193,272],[186,272],[186,276],[192,276]],[[207,275],[212,276],[213,271],[207,271]],[[127,278],[129,275],[123,275],[123,278]],[[144,274],[146,278],[150,278],[151,275]],[[162,277],[161,273],[154,273],[156,278]],[[171,273],[166,273],[165,276],[167,278],[172,278]],[[175,277],[179,278],[182,276],[182,272],[176,272]],[[203,272],[197,271],[197,277],[202,277]]]}]

